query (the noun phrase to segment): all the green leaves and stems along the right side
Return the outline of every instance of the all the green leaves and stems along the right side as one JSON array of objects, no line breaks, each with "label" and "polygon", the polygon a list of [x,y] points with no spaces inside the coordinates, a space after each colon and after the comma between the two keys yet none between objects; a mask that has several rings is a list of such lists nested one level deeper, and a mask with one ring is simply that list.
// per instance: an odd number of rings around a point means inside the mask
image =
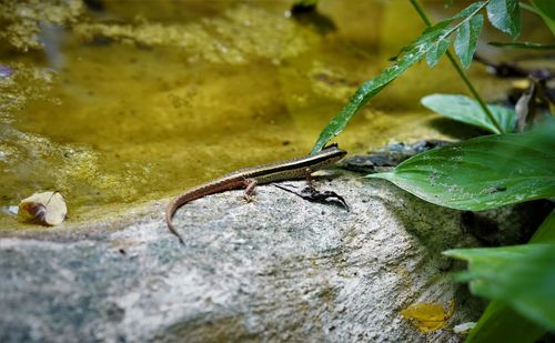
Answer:
[{"label": "all the green leaves and stems along the right side", "polygon": [[[430,26],[418,1],[411,0],[411,3]],[[523,8],[542,16],[555,34],[555,1],[531,0],[531,3],[532,6],[523,4]],[[521,12],[517,0],[478,1],[451,19],[430,26],[401,50],[394,65],[362,84],[321,132],[312,153],[319,152],[343,131],[362,107],[414,63],[425,57],[427,64],[434,67],[446,53],[478,102],[462,95],[435,94],[424,98],[423,104],[443,115],[498,135],[432,150],[401,163],[392,172],[369,178],[390,180],[426,201],[461,210],[486,210],[555,196],[553,123],[542,130],[508,133],[515,125],[515,112],[495,105],[486,107],[448,52],[451,36],[456,32],[455,52],[464,68],[471,65],[484,22],[478,12],[484,7],[495,28],[511,34],[513,39],[519,36]],[[456,21],[458,22],[455,23]],[[529,42],[511,44],[513,48],[528,49],[548,47]],[[507,47],[508,43],[497,46]],[[472,281],[475,294],[495,299],[471,332],[468,341],[533,342],[545,330],[532,321],[555,327],[555,296],[552,291],[555,289],[555,214],[552,213],[551,218],[551,233],[543,233],[541,238],[551,238],[552,244],[447,252],[471,261],[471,270],[462,274],[462,280]],[[541,282],[535,283],[536,279]],[[543,302],[547,297],[548,301]]]}]

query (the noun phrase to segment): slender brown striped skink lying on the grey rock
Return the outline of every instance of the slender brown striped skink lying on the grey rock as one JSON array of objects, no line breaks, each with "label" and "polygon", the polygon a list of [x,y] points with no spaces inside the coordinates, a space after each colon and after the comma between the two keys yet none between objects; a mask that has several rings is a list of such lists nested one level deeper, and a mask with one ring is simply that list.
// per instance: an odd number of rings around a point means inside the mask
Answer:
[{"label": "slender brown striped skink lying on the grey rock", "polygon": [[245,195],[250,196],[256,184],[309,178],[312,172],[332,165],[345,154],[346,151],[333,144],[313,155],[238,170],[223,178],[188,190],[168,204],[165,209],[168,229],[184,244],[183,238],[172,223],[172,219],[175,211],[185,203],[205,195],[243,188],[246,189]]}]

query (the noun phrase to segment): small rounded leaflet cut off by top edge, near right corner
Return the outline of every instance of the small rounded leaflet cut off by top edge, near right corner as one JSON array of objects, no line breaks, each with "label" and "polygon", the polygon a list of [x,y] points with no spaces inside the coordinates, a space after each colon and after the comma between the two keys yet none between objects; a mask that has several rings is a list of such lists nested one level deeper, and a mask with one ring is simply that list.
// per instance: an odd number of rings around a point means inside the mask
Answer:
[{"label": "small rounded leaflet cut off by top edge, near right corner", "polygon": [[521,34],[521,9],[518,0],[491,0],[487,3],[487,18],[501,31],[516,38]]}]

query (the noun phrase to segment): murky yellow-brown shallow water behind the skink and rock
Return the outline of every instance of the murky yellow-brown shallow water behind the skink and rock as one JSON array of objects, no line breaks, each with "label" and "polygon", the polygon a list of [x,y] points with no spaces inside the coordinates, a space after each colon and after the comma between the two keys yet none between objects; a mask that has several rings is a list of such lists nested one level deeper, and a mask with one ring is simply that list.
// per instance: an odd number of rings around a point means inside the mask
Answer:
[{"label": "murky yellow-brown shallow water behind the skink and rock", "polygon": [[[0,115],[0,205],[59,190],[78,222],[306,154],[356,87],[423,28],[404,1],[323,1],[321,18],[301,22],[289,4],[107,1],[73,30],[46,28],[47,53],[2,51],[16,70],[2,90],[27,97]],[[418,105],[438,89],[464,92],[445,62],[433,78],[413,68],[340,147],[445,138]],[[22,225],[2,213],[0,226]]]}]

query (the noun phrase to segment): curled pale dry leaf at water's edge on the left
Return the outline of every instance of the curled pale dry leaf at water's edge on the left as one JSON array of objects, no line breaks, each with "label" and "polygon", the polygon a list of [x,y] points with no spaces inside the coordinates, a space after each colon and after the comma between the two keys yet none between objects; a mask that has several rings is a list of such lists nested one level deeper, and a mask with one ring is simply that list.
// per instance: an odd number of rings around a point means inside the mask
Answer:
[{"label": "curled pale dry leaf at water's edge on the left", "polygon": [[18,215],[26,222],[58,225],[67,214],[65,200],[60,192],[34,193],[19,203]]}]

